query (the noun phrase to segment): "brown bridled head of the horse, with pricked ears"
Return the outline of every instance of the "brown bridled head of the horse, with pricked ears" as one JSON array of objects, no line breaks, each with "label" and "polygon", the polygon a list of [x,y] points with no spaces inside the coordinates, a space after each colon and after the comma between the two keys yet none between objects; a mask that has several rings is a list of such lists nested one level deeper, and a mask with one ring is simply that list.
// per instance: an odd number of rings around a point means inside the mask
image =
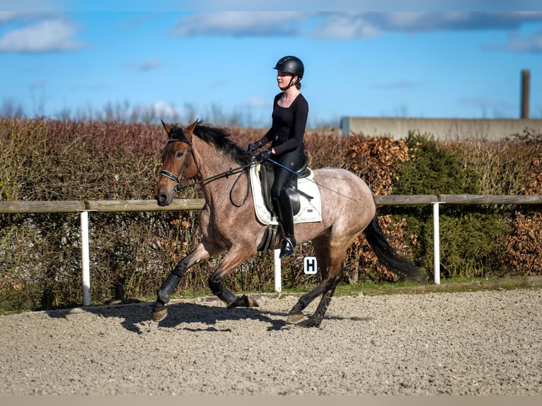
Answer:
[{"label": "brown bridled head of the horse, with pricked ears", "polygon": [[192,149],[192,133],[197,123],[198,120],[185,128],[162,122],[168,133],[168,144],[162,152],[162,170],[154,187],[154,198],[159,206],[170,204],[175,192],[198,174]]}]

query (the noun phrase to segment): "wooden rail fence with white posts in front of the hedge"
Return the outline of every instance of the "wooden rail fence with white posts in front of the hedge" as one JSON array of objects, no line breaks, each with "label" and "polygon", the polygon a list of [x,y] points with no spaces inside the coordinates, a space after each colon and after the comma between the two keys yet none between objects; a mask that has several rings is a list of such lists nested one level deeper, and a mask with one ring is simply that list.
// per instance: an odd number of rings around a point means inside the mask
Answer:
[{"label": "wooden rail fence with white posts in front of the hedge", "polygon": [[[375,196],[377,205],[432,204],[434,243],[434,283],[440,283],[440,204],[542,204],[542,195],[391,195]],[[25,213],[80,213],[81,217],[81,277],[83,279],[83,306],[91,304],[91,277],[89,265],[88,215],[127,211],[200,210],[204,199],[173,199],[168,207],[160,207],[154,200],[72,200],[0,202],[1,214]],[[275,250],[275,291],[282,290],[280,260]]]}]

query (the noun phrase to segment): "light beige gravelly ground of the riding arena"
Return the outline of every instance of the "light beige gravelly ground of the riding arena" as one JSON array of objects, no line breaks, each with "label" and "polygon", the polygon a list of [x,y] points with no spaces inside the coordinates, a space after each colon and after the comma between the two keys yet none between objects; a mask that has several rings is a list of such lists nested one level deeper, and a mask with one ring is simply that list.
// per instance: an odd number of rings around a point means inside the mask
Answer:
[{"label": "light beige gravelly ground of the riding arena", "polygon": [[296,300],[0,316],[0,395],[542,395],[541,289]]}]

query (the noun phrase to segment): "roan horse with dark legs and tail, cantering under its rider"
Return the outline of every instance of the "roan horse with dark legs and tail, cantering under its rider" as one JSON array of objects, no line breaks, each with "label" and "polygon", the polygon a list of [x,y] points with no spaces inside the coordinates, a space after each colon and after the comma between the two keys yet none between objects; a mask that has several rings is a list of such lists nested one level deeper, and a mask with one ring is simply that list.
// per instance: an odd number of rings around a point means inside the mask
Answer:
[{"label": "roan horse with dark legs and tail, cantering under its rider", "polygon": [[[253,157],[229,139],[227,129],[198,120],[187,127],[162,124],[168,133],[168,144],[163,149],[163,169],[154,189],[156,201],[167,206],[175,193],[195,178],[202,186],[205,204],[200,212],[200,243],[175,265],[158,289],[153,320],[166,317],[166,303],[186,269],[225,250],[224,259],[209,277],[210,289],[228,308],[258,306],[254,298],[246,294],[236,296],[222,284],[226,275],[258,252],[267,228],[255,216],[248,175],[243,175],[255,164]],[[231,176],[234,172],[239,175]],[[316,327],[321,324],[335,287],[342,280],[347,249],[362,232],[379,260],[399,277],[424,279],[420,269],[403,260],[388,244],[379,227],[373,194],[361,178],[344,169],[322,168],[314,170],[313,181],[321,193],[322,221],[296,224],[294,229],[298,243],[313,243],[321,283],[299,298],[288,313],[287,323]],[[275,243],[275,248],[279,243]],[[322,298],[316,311],[306,318],[304,308],[319,295]]]}]

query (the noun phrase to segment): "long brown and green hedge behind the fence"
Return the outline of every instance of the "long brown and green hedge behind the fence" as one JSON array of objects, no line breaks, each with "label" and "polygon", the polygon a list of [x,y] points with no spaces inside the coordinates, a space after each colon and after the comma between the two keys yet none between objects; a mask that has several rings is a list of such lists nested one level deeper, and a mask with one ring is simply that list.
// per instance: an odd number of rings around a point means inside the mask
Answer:
[{"label": "long brown and green hedge behind the fence", "polygon": [[[265,129],[232,128],[241,146]],[[0,201],[152,199],[161,168],[163,128],[153,124],[0,119]],[[362,177],[376,195],[542,194],[542,136],[526,129],[507,141],[434,141],[306,134],[312,168],[336,166]],[[202,197],[197,188],[178,197]],[[381,226],[400,253],[432,274],[430,207],[380,207]],[[540,207],[442,207],[443,277],[541,274]],[[91,215],[93,303],[154,297],[173,265],[199,240],[197,212]],[[82,302],[79,216],[0,214],[0,308],[42,309]],[[284,289],[316,283],[300,265],[311,243],[282,262]],[[176,294],[208,293],[220,257],[186,274]],[[344,283],[380,283],[396,275],[360,236],[345,257]],[[272,291],[272,255],[260,253],[226,284]]]}]

